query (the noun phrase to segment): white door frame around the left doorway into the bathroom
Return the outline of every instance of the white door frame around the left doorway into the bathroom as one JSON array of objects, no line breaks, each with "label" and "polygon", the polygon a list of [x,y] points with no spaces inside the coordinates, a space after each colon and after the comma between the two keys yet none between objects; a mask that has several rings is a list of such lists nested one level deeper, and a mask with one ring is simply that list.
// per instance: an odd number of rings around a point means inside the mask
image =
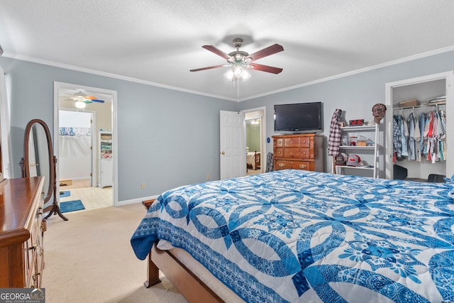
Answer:
[{"label": "white door frame around the left doorway into the bathroom", "polygon": [[[58,138],[58,128],[59,128],[59,96],[60,96],[60,91],[63,89],[83,89],[87,90],[89,92],[93,92],[94,94],[107,94],[111,96],[111,115],[112,115],[112,153],[114,155],[118,155],[118,139],[117,139],[117,132],[118,132],[118,126],[117,126],[117,92],[111,89],[101,89],[98,87],[87,87],[84,85],[79,85],[79,84],[71,84],[71,83],[65,83],[65,82],[54,82],[54,142],[56,141],[55,139]],[[92,137],[96,137],[96,133],[92,133]],[[54,144],[54,155],[57,158],[57,167],[56,167],[56,172],[57,172],[57,180],[58,179],[58,157],[59,157],[59,147],[58,144]],[[117,206],[118,205],[118,156],[113,158],[114,160],[114,180],[113,180],[113,186],[112,190],[114,192],[114,201],[113,205]],[[92,176],[93,177],[93,176]],[[60,182],[57,182],[57,192],[60,190]]]}]

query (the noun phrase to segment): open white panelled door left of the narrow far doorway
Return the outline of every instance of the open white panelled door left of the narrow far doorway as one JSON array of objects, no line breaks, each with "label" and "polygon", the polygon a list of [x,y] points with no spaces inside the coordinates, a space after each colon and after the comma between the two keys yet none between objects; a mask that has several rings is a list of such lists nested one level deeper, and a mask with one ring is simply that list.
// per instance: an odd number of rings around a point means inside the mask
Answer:
[{"label": "open white panelled door left of the narrow far doorway", "polygon": [[221,180],[246,174],[246,143],[244,113],[220,111]]}]

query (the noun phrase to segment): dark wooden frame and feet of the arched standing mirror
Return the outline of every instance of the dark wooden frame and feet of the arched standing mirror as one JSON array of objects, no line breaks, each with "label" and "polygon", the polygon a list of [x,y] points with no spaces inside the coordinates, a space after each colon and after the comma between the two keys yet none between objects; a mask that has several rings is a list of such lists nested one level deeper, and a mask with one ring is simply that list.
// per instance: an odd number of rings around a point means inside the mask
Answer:
[{"label": "dark wooden frame and feet of the arched standing mirror", "polygon": [[28,162],[28,155],[29,155],[28,151],[29,151],[30,145],[28,144],[28,142],[30,139],[31,129],[35,123],[38,123],[41,126],[43,126],[45,136],[47,139],[47,143],[48,143],[49,187],[48,187],[48,192],[47,192],[46,196],[43,197],[44,203],[46,203],[50,200],[50,198],[52,197],[52,194],[54,196],[52,205],[47,206],[47,207],[45,207],[45,209],[43,209],[43,212],[50,211],[48,216],[46,216],[44,219],[48,219],[48,217],[52,214],[58,214],[63,220],[67,221],[68,219],[65,216],[63,216],[62,212],[60,211],[60,206],[58,205],[58,201],[57,201],[57,180],[56,180],[56,170],[55,170],[55,166],[57,164],[57,158],[55,157],[55,155],[53,153],[52,138],[50,137],[50,131],[49,131],[48,125],[43,120],[33,119],[27,123],[26,131],[23,136],[23,158],[21,160],[22,177],[30,177],[30,169],[29,169],[30,163]]}]

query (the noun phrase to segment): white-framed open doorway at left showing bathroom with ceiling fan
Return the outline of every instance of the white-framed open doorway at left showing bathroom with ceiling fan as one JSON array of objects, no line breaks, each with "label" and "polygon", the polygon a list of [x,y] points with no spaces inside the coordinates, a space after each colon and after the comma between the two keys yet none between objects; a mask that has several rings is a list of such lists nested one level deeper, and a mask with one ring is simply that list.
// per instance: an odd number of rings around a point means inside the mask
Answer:
[{"label": "white-framed open doorway at left showing bathroom with ceiling fan", "polygon": [[[54,83],[54,153],[60,205],[80,200],[89,210],[117,204],[115,101],[114,91]],[[111,134],[111,182],[101,186],[99,142],[106,131]]]}]

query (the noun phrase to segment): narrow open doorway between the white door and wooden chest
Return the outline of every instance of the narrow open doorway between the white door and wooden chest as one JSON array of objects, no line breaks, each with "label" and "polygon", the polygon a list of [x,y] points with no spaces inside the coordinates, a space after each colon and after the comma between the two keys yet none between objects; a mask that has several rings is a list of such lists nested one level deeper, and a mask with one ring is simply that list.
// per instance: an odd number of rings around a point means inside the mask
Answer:
[{"label": "narrow open doorway between the white door and wooden chest", "polygon": [[265,172],[265,108],[245,111],[246,175]]}]

